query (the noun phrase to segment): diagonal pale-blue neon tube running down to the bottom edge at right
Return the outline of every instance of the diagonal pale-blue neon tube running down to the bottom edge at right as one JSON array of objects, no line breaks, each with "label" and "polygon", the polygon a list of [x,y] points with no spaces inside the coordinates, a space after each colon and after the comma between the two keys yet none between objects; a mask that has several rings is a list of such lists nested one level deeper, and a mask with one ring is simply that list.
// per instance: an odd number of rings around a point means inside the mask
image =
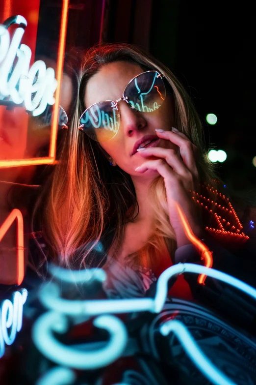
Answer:
[{"label": "diagonal pale-blue neon tube running down to the bottom edge at right", "polygon": [[199,348],[186,326],[179,321],[171,320],[160,327],[160,333],[164,336],[167,336],[171,331],[174,332],[179,339],[179,342],[191,361],[193,361],[195,366],[211,383],[215,385],[236,385],[211,363],[204,352]]}]

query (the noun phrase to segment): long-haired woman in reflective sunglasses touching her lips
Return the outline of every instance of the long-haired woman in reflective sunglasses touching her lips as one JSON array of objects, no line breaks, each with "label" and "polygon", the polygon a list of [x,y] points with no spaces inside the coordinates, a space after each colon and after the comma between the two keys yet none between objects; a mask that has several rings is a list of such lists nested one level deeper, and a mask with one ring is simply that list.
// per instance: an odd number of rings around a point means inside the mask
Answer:
[{"label": "long-haired woman in reflective sunglasses touching her lips", "polygon": [[105,44],[82,61],[68,126],[46,199],[49,255],[70,268],[106,268],[110,296],[143,296],[165,268],[191,256],[177,203],[205,238],[192,195],[204,183],[212,194],[218,183],[193,103],[159,60]]}]

